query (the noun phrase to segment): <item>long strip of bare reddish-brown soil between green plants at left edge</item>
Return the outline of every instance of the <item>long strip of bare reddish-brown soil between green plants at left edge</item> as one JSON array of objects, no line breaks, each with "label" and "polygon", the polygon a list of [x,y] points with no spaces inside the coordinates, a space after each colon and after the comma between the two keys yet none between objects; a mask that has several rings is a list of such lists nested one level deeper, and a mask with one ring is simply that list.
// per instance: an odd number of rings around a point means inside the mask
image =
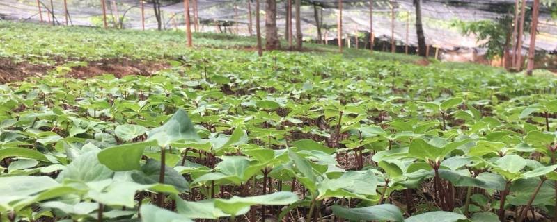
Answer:
[{"label": "long strip of bare reddish-brown soil between green plants at left edge", "polygon": [[[56,65],[33,64],[30,62],[14,62],[10,58],[0,58],[0,84],[25,80],[33,76],[42,76],[64,60],[57,60]],[[91,78],[102,74],[113,74],[117,78],[127,75],[148,76],[170,67],[161,61],[139,61],[127,58],[103,59],[88,61],[86,66],[71,67],[66,74],[70,78]]]}]

